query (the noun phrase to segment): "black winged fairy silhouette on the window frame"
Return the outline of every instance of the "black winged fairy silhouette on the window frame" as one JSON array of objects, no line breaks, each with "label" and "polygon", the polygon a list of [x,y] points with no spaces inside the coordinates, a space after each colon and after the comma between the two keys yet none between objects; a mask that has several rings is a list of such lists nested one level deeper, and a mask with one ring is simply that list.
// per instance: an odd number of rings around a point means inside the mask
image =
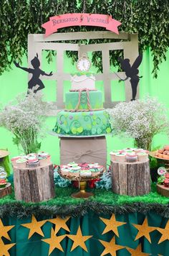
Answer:
[{"label": "black winged fairy silhouette on the window frame", "polygon": [[135,96],[137,94],[138,82],[140,81],[140,78],[143,78],[143,76],[137,76],[137,74],[139,72],[137,68],[139,67],[140,63],[142,62],[142,59],[143,59],[143,55],[142,54],[138,55],[135,62],[131,66],[129,59],[122,60],[122,58],[118,58],[118,60],[120,61],[120,65],[121,65],[122,70],[125,71],[126,78],[122,79],[117,74],[116,74],[116,76],[118,76],[118,78],[120,78],[120,81],[126,81],[128,78],[131,78],[130,79],[130,83],[131,83],[131,86],[132,86],[132,99],[131,99],[131,101],[135,101]]}]

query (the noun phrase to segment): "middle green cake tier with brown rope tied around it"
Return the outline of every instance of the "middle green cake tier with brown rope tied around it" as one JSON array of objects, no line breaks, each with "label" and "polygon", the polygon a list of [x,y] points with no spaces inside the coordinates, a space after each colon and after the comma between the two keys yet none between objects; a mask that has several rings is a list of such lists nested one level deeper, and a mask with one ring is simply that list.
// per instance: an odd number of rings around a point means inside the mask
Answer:
[{"label": "middle green cake tier with brown rope tied around it", "polygon": [[[89,101],[87,94],[89,93]],[[65,93],[65,108],[71,109],[103,109],[101,91],[69,91]]]}]

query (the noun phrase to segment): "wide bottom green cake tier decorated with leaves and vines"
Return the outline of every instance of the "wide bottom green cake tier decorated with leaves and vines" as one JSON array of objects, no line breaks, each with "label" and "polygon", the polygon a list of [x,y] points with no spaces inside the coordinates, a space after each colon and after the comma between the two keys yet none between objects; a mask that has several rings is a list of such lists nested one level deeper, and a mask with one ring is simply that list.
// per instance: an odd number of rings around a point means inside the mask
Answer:
[{"label": "wide bottom green cake tier decorated with leaves and vines", "polygon": [[57,134],[91,136],[110,133],[111,127],[107,111],[69,112],[60,111],[53,129]]}]

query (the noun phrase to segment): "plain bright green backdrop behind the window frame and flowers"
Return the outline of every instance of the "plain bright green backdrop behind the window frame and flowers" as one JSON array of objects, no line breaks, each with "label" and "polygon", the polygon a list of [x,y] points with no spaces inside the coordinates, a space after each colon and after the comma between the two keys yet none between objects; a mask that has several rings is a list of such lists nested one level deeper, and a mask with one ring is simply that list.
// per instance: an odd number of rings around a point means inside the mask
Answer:
[{"label": "plain bright green backdrop behind the window frame and flowers", "polygon": [[[56,71],[55,61],[48,64],[45,56],[43,56],[42,69],[47,72],[51,70]],[[153,57],[151,56],[150,50],[146,50],[143,54],[143,62],[140,65],[140,98],[143,98],[146,94],[150,96],[157,96],[159,101],[163,102],[169,108],[169,51],[167,52],[167,60],[160,64],[160,70],[158,72],[158,78],[153,78],[151,73],[153,70]],[[23,59],[23,66],[27,64],[26,57]],[[112,68],[111,68],[112,69]],[[74,65],[72,65],[72,60],[64,58],[64,72],[71,73],[75,71]],[[91,71],[96,72],[94,68]],[[11,101],[14,97],[23,91],[27,90],[28,75],[26,72],[19,68],[9,70],[4,72],[0,76],[0,101],[1,104],[6,104],[6,102]],[[56,93],[56,81],[44,81],[46,88],[44,88],[44,99],[47,101],[55,101]],[[97,82],[97,88],[102,89],[102,81]],[[67,91],[70,87],[70,82],[65,81],[64,91]],[[124,84],[118,83],[117,81],[112,81],[112,99],[124,100],[125,91]],[[56,117],[51,116],[47,118],[47,126],[50,129],[54,127],[56,122]],[[16,145],[12,142],[12,134],[4,128],[0,128],[0,148],[8,148],[11,153],[10,157],[18,155],[19,152]],[[165,135],[157,135],[153,140],[153,147],[158,145],[163,146],[169,143],[168,138]],[[117,137],[107,136],[107,152],[112,149],[120,149],[122,147],[132,146],[133,141],[130,140],[120,140]],[[42,141],[42,150],[49,152],[52,155],[53,163],[59,164],[59,139],[57,137],[52,137],[52,135],[47,134],[47,137]],[[108,154],[108,162],[110,160]]]}]

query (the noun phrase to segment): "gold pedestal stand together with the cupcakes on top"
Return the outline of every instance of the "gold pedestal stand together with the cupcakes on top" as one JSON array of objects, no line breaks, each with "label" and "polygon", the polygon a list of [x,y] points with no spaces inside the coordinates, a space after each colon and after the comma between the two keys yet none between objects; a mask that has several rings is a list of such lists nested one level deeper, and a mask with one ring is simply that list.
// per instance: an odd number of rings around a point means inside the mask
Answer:
[{"label": "gold pedestal stand together with the cupcakes on top", "polygon": [[93,193],[85,191],[87,180],[100,178],[104,172],[105,168],[98,163],[77,164],[72,162],[67,165],[60,165],[58,168],[58,173],[62,178],[79,181],[79,192],[72,194],[74,198],[89,198],[90,196],[94,196]]}]

